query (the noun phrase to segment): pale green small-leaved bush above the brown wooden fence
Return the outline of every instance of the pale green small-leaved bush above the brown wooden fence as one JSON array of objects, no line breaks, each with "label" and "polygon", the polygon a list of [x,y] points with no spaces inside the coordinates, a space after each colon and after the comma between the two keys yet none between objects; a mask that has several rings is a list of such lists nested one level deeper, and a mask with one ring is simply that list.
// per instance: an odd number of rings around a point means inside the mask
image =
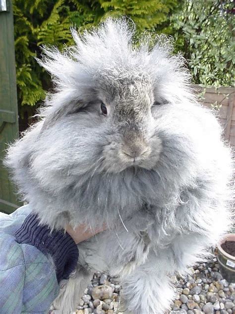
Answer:
[{"label": "pale green small-leaved bush above the brown wooden fence", "polygon": [[172,16],[176,50],[182,51],[195,83],[234,86],[233,0],[186,0]]}]

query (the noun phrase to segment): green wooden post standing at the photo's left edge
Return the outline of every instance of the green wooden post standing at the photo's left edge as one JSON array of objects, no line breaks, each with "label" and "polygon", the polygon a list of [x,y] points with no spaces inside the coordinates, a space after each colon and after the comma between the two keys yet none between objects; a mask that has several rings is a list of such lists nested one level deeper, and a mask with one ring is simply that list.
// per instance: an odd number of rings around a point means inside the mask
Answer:
[{"label": "green wooden post standing at the photo's left edge", "polygon": [[0,211],[13,212],[19,204],[3,167],[7,145],[18,137],[14,26],[11,0],[0,0]]}]

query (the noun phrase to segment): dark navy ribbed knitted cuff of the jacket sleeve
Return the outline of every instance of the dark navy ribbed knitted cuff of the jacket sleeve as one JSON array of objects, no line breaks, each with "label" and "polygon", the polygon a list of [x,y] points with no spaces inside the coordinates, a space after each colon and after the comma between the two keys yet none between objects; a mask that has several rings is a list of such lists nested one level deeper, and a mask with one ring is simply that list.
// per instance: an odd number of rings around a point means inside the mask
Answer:
[{"label": "dark navy ribbed knitted cuff of the jacket sleeve", "polygon": [[37,215],[30,214],[22,226],[15,232],[18,243],[26,243],[37,247],[43,254],[51,255],[58,282],[67,279],[75,269],[78,260],[78,248],[71,236],[63,231],[39,225]]}]

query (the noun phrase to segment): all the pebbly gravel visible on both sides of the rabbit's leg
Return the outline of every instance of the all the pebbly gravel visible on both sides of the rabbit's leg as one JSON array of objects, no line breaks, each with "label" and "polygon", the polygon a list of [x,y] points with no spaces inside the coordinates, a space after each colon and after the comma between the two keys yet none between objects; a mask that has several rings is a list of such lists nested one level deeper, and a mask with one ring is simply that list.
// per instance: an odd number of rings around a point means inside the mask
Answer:
[{"label": "all the pebbly gravel visible on both sides of the rabbit's leg", "polygon": [[[235,283],[222,278],[216,257],[190,268],[185,279],[172,277],[177,298],[170,314],[235,314]],[[73,314],[116,314],[120,285],[116,278],[97,272]],[[51,310],[51,314],[59,314]],[[143,313],[144,314],[144,313]]]}]

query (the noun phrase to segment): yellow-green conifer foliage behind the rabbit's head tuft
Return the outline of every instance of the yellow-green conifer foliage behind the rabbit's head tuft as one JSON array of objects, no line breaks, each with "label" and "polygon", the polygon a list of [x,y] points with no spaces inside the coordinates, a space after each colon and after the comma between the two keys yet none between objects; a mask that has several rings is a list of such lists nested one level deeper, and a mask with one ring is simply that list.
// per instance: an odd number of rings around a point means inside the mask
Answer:
[{"label": "yellow-green conifer foliage behind the rabbit's head tuft", "polygon": [[[16,77],[19,105],[38,104],[50,86],[34,57],[40,45],[71,45],[70,27],[97,25],[108,16],[126,15],[139,31],[159,29],[180,0],[14,0]],[[19,111],[21,109],[19,108]]]}]

